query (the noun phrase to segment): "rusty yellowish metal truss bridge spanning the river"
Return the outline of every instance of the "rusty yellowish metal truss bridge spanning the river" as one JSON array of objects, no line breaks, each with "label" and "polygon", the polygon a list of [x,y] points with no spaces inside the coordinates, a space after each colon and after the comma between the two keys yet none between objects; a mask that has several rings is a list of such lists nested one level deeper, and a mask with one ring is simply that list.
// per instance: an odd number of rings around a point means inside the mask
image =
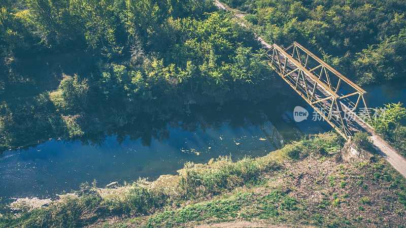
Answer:
[{"label": "rusty yellowish metal truss bridge spanning the river", "polygon": [[[288,53],[288,49],[292,47],[293,52]],[[271,50],[272,55],[270,54]],[[305,55],[301,55],[299,50]],[[362,100],[364,109],[361,111],[363,111],[365,118],[370,118],[363,98],[364,90],[296,42],[287,49],[282,49],[274,44],[270,51],[267,52],[267,57],[270,60],[269,66],[345,139],[351,139],[354,133],[362,131],[362,129],[370,133],[373,132],[372,127],[355,113]],[[306,57],[306,62],[304,57]],[[309,59],[316,62],[315,67],[311,67],[311,60]],[[317,69],[320,70],[320,74],[315,72]],[[335,87],[332,85],[334,80],[337,84]],[[340,92],[342,83],[353,88],[355,92],[347,94]],[[356,97],[356,95],[358,95],[357,101],[351,101],[351,97]]]}]

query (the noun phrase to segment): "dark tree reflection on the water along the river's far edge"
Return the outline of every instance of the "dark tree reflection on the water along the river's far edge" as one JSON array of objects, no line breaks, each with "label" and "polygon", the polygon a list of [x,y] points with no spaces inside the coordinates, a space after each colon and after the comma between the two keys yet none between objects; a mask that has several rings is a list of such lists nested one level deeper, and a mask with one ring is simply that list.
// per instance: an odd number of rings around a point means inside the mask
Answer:
[{"label": "dark tree reflection on the water along the river's far edge", "polygon": [[[290,128],[294,132],[295,128],[291,123],[286,123],[282,114],[287,109],[284,105],[272,105],[270,103],[259,103],[252,105],[248,102],[230,103],[221,107],[217,105],[192,106],[189,111],[172,112],[162,115],[162,113],[142,113],[138,114],[130,124],[115,128],[107,134],[102,133],[91,137],[80,139],[82,143],[88,145],[100,145],[107,136],[117,136],[117,142],[120,144],[129,138],[132,141],[141,139],[142,145],[150,146],[153,140],[161,142],[170,138],[170,131],[173,128],[181,131],[196,132],[215,131],[223,125],[232,128],[244,128],[247,126],[261,126],[268,119],[264,112],[272,113],[271,122],[278,122],[277,125],[283,128]],[[284,125],[285,124],[285,125]],[[293,139],[292,137],[287,137]]]}]

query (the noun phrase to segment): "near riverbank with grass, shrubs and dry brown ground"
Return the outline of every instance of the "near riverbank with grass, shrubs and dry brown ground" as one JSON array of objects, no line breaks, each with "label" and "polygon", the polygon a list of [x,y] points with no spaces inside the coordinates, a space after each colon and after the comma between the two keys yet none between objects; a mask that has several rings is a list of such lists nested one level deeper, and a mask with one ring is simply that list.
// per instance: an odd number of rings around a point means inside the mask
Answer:
[{"label": "near riverbank with grass, shrubs and dry brown ground", "polygon": [[187,164],[154,182],[83,186],[46,207],[3,215],[0,227],[405,224],[405,179],[379,155],[343,161],[341,147],[335,135],[322,134],[256,159]]}]

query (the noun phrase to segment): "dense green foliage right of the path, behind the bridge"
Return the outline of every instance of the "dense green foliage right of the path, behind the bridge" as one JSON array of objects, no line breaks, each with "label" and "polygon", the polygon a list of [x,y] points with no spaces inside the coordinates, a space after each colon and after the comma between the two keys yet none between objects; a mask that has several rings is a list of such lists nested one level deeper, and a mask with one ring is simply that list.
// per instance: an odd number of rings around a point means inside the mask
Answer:
[{"label": "dense green foliage right of the path, behind the bridge", "polygon": [[[227,1],[225,1],[227,3]],[[404,77],[406,4],[367,1],[228,1],[257,17],[266,40],[285,47],[297,41],[361,84]],[[247,5],[250,5],[248,7]]]}]

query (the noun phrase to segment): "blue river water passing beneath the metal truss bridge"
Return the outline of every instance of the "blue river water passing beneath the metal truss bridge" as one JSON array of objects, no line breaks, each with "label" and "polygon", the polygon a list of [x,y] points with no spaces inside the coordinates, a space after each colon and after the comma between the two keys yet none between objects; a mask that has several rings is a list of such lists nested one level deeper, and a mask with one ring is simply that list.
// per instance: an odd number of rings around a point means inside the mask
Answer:
[{"label": "blue river water passing beneath the metal truss bridge", "polygon": [[[405,85],[364,87],[368,105],[375,108],[406,102]],[[310,117],[294,122],[296,106],[306,108]],[[234,160],[262,156],[303,134],[331,129],[326,122],[313,121],[312,113],[312,108],[292,92],[256,105],[194,106],[190,115],[176,120],[141,118],[92,139],[50,140],[0,156],[0,197],[49,197],[93,180],[98,186],[132,182],[139,177],[153,180],[176,174],[187,161],[206,163],[226,155]]]}]

